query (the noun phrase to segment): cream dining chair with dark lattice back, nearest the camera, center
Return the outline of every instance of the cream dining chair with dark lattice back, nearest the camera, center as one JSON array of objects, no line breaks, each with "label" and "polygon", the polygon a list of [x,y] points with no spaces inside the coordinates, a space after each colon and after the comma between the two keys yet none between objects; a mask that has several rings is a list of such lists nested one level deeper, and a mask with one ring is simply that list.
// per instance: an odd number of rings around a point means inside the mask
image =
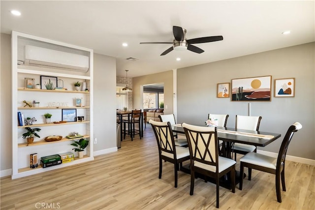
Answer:
[{"label": "cream dining chair with dark lattice back, nearest the camera, center", "polygon": [[195,173],[212,177],[217,184],[219,208],[219,179],[230,173],[232,192],[235,193],[235,164],[233,159],[219,156],[217,127],[182,124],[190,154],[190,195],[193,195]]}]

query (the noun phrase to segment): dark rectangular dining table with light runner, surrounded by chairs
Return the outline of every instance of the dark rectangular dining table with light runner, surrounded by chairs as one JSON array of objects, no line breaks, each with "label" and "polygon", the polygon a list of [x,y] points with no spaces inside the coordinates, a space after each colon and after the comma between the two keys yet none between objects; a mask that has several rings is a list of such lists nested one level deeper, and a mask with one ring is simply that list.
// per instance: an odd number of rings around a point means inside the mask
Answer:
[{"label": "dark rectangular dining table with light runner, surrounded by chairs", "polygon": [[[172,125],[172,130],[175,133],[185,134],[184,128],[181,126],[181,124]],[[256,147],[265,147],[281,137],[281,134],[279,133],[243,130],[228,127],[217,127],[217,134],[218,140],[223,141],[219,155],[230,159],[232,159],[231,153],[235,143],[253,145]],[[189,165],[183,166],[182,171],[190,173]],[[236,171],[236,183],[239,182],[240,177],[240,173]],[[243,178],[244,177],[246,177],[246,174],[243,175]],[[230,189],[229,181],[223,180],[220,182],[220,185]]]}]

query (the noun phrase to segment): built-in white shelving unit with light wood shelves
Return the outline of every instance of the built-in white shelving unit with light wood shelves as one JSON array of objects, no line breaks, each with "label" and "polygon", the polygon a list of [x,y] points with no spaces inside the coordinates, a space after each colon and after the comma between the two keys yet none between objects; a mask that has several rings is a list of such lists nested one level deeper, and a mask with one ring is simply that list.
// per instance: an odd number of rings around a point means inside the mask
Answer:
[{"label": "built-in white shelving unit with light wood shelves", "polygon": [[[41,83],[41,76],[57,78],[57,87],[67,90],[43,90],[25,87],[25,78],[34,79],[34,84]],[[88,90],[76,91],[75,82],[86,83]],[[61,83],[62,82],[62,83]],[[56,87],[55,86],[55,87]],[[81,98],[82,106],[76,106],[75,99]],[[32,104],[40,102],[38,107],[25,106],[23,101]],[[33,105],[33,104],[32,104]],[[75,109],[77,116],[84,116],[84,121],[62,120],[64,109]],[[35,118],[32,125],[19,125],[17,113],[24,118]],[[51,123],[46,123],[44,114],[52,114]],[[27,146],[22,134],[26,127],[38,127],[40,138]],[[89,139],[83,158],[61,165],[41,168],[42,156],[73,151],[72,140],[65,138],[71,132],[78,132]],[[63,136],[62,140],[46,142],[47,136]],[[30,168],[30,154],[37,153],[38,168]],[[75,156],[77,156],[75,152]],[[46,38],[12,31],[12,179],[30,176],[73,164],[94,160],[93,155],[93,50],[74,46]]]}]

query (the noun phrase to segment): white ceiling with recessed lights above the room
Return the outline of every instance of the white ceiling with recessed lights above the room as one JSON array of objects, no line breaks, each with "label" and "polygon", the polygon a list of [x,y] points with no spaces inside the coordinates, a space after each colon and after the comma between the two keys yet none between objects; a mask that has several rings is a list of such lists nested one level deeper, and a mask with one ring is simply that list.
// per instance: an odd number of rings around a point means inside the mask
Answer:
[{"label": "white ceiling with recessed lights above the room", "polygon": [[[315,41],[314,0],[308,1],[0,1],[1,33],[29,33],[117,59],[128,78]],[[13,16],[17,9],[22,15]],[[195,44],[205,52],[173,50],[173,26],[188,39],[222,35]],[[291,34],[282,34],[291,30]],[[128,47],[122,43],[127,42]],[[133,57],[139,60],[128,61]],[[176,61],[180,57],[181,61]]]}]

